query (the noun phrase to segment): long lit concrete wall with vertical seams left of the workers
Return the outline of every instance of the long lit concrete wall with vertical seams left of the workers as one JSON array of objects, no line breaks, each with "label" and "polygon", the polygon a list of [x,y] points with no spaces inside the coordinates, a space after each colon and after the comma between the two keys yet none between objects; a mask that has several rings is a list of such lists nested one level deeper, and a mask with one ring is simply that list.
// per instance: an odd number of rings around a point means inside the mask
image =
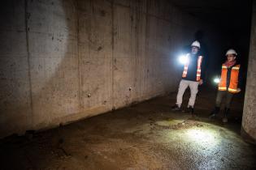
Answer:
[{"label": "long lit concrete wall with vertical seams left of the workers", "polygon": [[176,51],[206,28],[167,0],[11,0],[0,11],[0,137],[176,91]]}]

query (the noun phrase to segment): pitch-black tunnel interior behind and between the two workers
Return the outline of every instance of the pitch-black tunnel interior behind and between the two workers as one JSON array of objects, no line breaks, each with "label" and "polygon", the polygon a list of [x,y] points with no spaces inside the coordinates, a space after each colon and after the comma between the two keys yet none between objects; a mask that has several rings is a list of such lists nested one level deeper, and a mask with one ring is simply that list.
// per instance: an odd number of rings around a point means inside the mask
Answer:
[{"label": "pitch-black tunnel interior behind and between the two workers", "polygon": [[[211,47],[204,42],[205,39],[207,39],[207,37],[204,37],[207,36],[207,33],[204,30],[198,30],[194,33],[194,39],[205,44],[202,45],[204,48],[202,48],[202,53],[206,55],[206,58],[210,57],[207,58],[209,72],[216,74],[216,70],[219,69],[218,66],[226,60],[226,57],[224,56],[226,51],[228,49],[236,49],[236,52],[239,53],[237,60],[238,62],[241,62],[241,65],[244,67],[243,70],[245,70],[243,71],[242,81],[243,86],[245,87],[253,1],[217,0],[206,2],[202,0],[173,0],[172,2],[190,15],[202,19],[206,23],[210,23],[216,30],[220,31],[218,36],[224,37],[225,40],[219,42],[218,47]],[[219,50],[219,56],[211,56],[210,53],[212,53],[213,50]]]}]

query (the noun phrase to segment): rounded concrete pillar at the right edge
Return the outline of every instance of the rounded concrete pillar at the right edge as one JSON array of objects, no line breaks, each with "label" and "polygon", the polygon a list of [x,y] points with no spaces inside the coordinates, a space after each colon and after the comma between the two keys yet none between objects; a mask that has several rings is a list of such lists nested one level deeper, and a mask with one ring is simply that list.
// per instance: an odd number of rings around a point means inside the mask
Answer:
[{"label": "rounded concrete pillar at the right edge", "polygon": [[245,105],[242,121],[242,134],[249,142],[256,143],[256,2],[252,13],[252,26],[249,45],[249,62],[245,91]]}]

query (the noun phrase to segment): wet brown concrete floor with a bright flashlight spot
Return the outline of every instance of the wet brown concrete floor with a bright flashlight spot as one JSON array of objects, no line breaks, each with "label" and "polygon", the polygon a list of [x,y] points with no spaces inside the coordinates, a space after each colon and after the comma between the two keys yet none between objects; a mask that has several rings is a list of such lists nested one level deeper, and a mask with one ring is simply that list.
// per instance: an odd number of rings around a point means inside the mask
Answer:
[{"label": "wet brown concrete floor with a bright flashlight spot", "polygon": [[171,112],[175,98],[174,93],[53,130],[4,138],[0,169],[256,168],[256,147],[239,134],[241,96],[227,125],[206,118],[215,92],[199,94],[196,119]]}]

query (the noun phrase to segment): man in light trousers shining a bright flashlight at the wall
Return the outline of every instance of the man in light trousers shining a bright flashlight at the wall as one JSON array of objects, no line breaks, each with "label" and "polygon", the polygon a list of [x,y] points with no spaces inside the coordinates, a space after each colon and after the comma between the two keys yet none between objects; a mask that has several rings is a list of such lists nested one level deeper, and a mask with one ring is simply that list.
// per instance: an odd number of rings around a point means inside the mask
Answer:
[{"label": "man in light trousers shining a bright flashlight at the wall", "polygon": [[191,45],[191,53],[186,55],[186,62],[184,63],[184,70],[182,79],[180,81],[179,91],[176,98],[176,104],[172,106],[173,111],[180,111],[184,91],[187,87],[190,88],[190,98],[188,107],[185,108],[185,113],[194,115],[193,106],[195,104],[198,85],[202,85],[202,55],[199,55],[200,43],[195,40]]}]

